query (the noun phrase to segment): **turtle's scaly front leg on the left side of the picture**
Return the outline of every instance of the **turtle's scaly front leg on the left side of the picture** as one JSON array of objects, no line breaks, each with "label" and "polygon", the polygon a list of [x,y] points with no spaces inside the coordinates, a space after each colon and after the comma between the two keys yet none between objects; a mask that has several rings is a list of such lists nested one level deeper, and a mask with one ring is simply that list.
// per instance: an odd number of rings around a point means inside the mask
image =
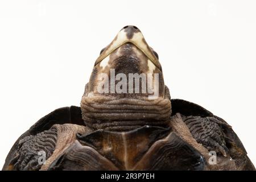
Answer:
[{"label": "turtle's scaly front leg on the left side of the picture", "polygon": [[75,124],[53,125],[49,130],[28,135],[19,140],[14,158],[3,170],[47,170],[76,140],[76,134],[85,134],[89,128]]}]

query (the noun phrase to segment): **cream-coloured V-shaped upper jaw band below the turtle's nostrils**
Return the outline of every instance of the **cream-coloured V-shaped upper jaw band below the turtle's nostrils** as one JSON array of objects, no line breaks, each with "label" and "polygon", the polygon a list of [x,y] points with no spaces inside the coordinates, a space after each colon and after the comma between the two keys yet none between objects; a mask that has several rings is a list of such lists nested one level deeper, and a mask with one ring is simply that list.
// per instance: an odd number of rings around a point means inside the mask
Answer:
[{"label": "cream-coloured V-shaped upper jaw band below the turtle's nostrils", "polygon": [[148,59],[157,67],[160,69],[160,63],[157,59],[157,57],[154,55],[154,53],[151,51],[150,47],[147,45],[146,40],[144,39],[144,36],[142,35],[142,32],[137,31],[133,33],[133,36],[131,39],[129,39],[129,36],[127,36],[127,32],[125,32],[125,29],[118,32],[115,39],[112,41],[112,43],[109,44],[105,48],[105,50],[101,53],[101,55],[96,60],[96,64],[100,63],[102,60],[105,59],[105,57],[109,56],[115,49],[121,47],[125,43],[133,43],[136,47],[138,47],[147,57]]}]

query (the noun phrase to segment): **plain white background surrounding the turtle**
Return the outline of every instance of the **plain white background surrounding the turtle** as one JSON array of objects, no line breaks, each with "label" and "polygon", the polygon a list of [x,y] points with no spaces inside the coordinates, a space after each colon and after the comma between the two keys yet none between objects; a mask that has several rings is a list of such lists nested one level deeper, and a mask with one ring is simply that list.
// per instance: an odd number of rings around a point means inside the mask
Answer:
[{"label": "plain white background surrounding the turtle", "polygon": [[80,105],[101,48],[133,24],[172,98],[224,118],[256,164],[256,1],[0,2],[0,167],[52,110]]}]

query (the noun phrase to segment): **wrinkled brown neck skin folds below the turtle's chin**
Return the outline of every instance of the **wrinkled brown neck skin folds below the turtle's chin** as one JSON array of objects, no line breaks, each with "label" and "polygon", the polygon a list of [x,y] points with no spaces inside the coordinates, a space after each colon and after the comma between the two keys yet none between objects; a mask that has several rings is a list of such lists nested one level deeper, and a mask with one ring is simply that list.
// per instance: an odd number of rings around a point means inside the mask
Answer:
[{"label": "wrinkled brown neck skin folds below the turtle's chin", "polygon": [[118,94],[88,96],[86,84],[81,100],[82,119],[93,130],[130,131],[142,126],[169,127],[171,101],[166,86],[163,98],[122,97]]}]

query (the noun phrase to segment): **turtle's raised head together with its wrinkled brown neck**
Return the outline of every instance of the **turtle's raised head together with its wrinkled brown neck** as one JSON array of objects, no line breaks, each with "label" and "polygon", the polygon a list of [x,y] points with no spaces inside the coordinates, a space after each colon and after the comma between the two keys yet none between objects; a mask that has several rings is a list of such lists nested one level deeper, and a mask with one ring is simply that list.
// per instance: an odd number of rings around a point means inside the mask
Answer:
[{"label": "turtle's raised head together with its wrinkled brown neck", "polygon": [[101,50],[81,100],[93,129],[168,126],[171,102],[158,54],[135,26],[125,26]]}]

